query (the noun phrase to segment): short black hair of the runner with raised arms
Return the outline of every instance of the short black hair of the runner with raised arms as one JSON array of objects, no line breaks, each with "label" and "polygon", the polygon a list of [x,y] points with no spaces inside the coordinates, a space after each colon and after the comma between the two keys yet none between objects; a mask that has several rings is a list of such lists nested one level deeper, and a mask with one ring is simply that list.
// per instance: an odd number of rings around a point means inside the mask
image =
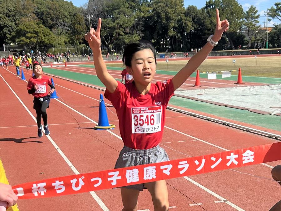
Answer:
[{"label": "short black hair of the runner with raised arms", "polygon": [[144,50],[144,49],[150,49],[153,52],[155,64],[156,64],[156,53],[155,48],[152,46],[151,43],[142,41],[140,43],[131,43],[126,46],[123,54],[122,61],[125,64],[125,66],[131,67],[132,66],[132,58],[134,54],[138,51]]}]

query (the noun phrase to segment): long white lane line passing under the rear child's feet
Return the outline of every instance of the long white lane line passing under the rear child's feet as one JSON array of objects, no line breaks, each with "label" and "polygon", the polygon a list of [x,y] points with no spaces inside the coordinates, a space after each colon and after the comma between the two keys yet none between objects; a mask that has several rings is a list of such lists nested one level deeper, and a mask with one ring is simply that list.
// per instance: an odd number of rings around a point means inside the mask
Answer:
[{"label": "long white lane line passing under the rear child's feet", "polygon": [[[14,73],[13,73],[14,74]],[[15,74],[14,74],[15,75]],[[19,102],[22,104],[22,106],[26,109],[27,113],[29,113],[29,115],[32,117],[32,119],[37,123],[36,118],[33,116],[33,114],[28,110],[28,108],[26,107],[26,105],[22,102],[22,100],[17,96],[17,94],[14,92],[14,90],[10,87],[10,85],[7,83],[7,81],[2,77],[2,75],[0,74],[1,78],[3,79],[3,81],[7,84],[7,86],[11,89],[12,93],[16,96],[16,98],[19,100]],[[42,128],[42,130],[44,131],[44,128]],[[58,145],[54,142],[54,140],[51,138],[50,135],[46,135],[46,137],[49,139],[49,141],[52,143],[52,145],[56,148],[56,150],[58,151],[58,153],[62,156],[62,158],[65,160],[65,162],[68,164],[68,166],[71,168],[71,170],[75,173],[75,174],[80,174],[78,172],[78,170],[74,167],[74,165],[70,162],[70,160],[66,157],[66,155],[62,152],[62,150],[58,147]],[[96,195],[96,193],[94,191],[90,191],[89,192],[91,194],[91,196],[96,200],[96,202],[100,205],[100,207],[102,208],[102,210],[104,211],[109,211],[109,209],[106,207],[106,205],[101,201],[101,199]]]}]

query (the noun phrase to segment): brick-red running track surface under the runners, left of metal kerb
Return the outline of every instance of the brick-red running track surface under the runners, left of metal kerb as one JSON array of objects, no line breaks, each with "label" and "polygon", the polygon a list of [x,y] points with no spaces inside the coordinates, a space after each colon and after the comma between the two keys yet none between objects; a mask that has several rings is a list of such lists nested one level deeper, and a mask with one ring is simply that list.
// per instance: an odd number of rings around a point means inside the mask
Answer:
[{"label": "brick-red running track surface under the runners, left of metal kerb", "polygon": [[[12,73],[15,72],[14,67],[9,67],[9,70]],[[22,100],[22,103],[33,115],[36,115],[33,110],[32,96],[27,94],[27,83],[12,73],[0,69],[1,76]],[[31,71],[25,72],[27,80],[31,74]],[[1,77],[0,81],[2,90],[0,96],[0,154],[8,180],[12,185],[71,175],[74,174],[73,167],[79,173],[114,167],[119,151],[123,147],[122,141],[108,131],[93,130],[95,123],[89,123],[91,120],[88,119],[98,121],[98,98],[101,91],[56,78],[56,90],[61,98],[58,99],[59,101],[52,99],[50,108],[47,110],[50,137],[57,144],[57,147],[54,147],[45,135],[37,138],[35,120],[27,113],[22,103]],[[71,110],[60,101],[88,118]],[[105,101],[110,104],[106,99]],[[111,123],[116,125],[116,129],[111,132],[119,136],[119,122],[115,110],[114,108],[109,109],[112,112],[107,109],[108,118],[112,121]],[[165,148],[170,159],[276,142],[270,138],[170,110],[167,110],[166,113],[165,125],[168,128],[165,128],[160,146]],[[194,141],[194,138],[190,136],[203,141]],[[72,168],[58,153],[57,148],[68,158]],[[275,166],[280,164],[280,161],[267,164]],[[270,166],[259,164],[234,170],[271,179]],[[190,177],[191,181],[196,181],[202,186],[195,185],[195,182],[192,183],[186,178],[168,180],[170,206],[176,207],[170,210],[269,210],[274,203],[280,200],[281,189],[276,182],[236,171],[224,170]],[[21,211],[38,209],[106,210],[106,207],[109,210],[121,210],[120,190],[101,190],[96,194],[104,203],[103,208],[90,193],[20,200],[18,205]],[[215,203],[224,199],[228,202]],[[190,206],[195,203],[202,203],[202,205]],[[139,210],[143,209],[153,210],[148,191],[143,191],[139,197]]]}]

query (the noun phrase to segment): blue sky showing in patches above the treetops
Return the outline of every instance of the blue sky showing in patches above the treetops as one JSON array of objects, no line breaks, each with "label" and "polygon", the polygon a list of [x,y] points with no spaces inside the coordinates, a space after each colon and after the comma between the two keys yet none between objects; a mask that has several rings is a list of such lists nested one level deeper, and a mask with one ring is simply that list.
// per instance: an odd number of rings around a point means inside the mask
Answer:
[{"label": "blue sky showing in patches above the treetops", "polygon": [[[67,0],[70,2],[70,0]],[[77,6],[80,7],[83,4],[87,3],[88,0],[71,0],[71,2]],[[194,5],[197,8],[202,8],[205,6],[206,0],[197,0],[197,1],[191,1],[191,0],[184,0],[185,7],[188,5]],[[261,27],[266,26],[266,23],[263,23],[266,21],[266,14],[264,11],[266,11],[267,8],[270,8],[271,6],[274,6],[275,2],[279,2],[279,0],[238,0],[238,3],[243,6],[244,10],[247,10],[252,4],[258,9],[260,18],[259,18],[259,24]],[[268,27],[273,26],[273,24],[279,24],[281,23],[278,19],[273,19],[271,22],[268,22]]]}]

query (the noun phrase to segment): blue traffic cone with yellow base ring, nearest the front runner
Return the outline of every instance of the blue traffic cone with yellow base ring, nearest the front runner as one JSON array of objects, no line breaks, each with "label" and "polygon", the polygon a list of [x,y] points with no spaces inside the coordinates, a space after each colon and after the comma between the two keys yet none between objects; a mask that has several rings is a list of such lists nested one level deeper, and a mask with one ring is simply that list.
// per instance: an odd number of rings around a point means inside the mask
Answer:
[{"label": "blue traffic cone with yellow base ring, nearest the front runner", "polygon": [[100,107],[99,107],[99,125],[94,127],[95,130],[106,130],[106,129],[114,129],[115,125],[109,124],[106,108],[104,104],[104,99],[102,94],[100,94]]}]

